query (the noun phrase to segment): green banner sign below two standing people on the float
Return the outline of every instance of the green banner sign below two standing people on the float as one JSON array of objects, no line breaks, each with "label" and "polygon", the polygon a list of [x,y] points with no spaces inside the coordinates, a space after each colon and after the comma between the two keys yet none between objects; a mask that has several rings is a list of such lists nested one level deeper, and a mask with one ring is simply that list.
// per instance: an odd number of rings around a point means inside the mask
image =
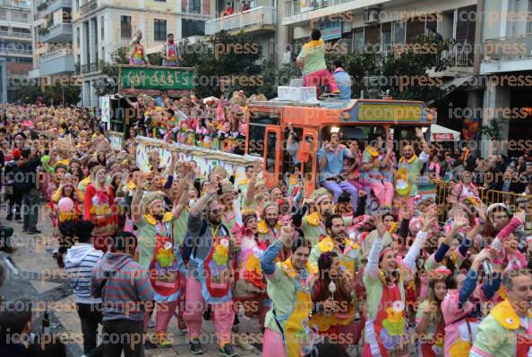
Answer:
[{"label": "green banner sign below two standing people on the float", "polygon": [[193,70],[188,67],[124,65],[120,67],[120,91],[138,89],[193,89]]}]

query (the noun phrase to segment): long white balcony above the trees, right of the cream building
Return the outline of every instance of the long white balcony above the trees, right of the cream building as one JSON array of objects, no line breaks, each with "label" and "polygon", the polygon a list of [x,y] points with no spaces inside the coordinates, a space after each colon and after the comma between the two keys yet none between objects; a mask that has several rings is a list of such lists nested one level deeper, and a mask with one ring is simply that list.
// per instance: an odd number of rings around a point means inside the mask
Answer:
[{"label": "long white balcony above the trees, right of the cream building", "polygon": [[214,35],[220,30],[243,30],[260,34],[274,31],[276,22],[276,8],[260,6],[205,22],[205,36]]}]

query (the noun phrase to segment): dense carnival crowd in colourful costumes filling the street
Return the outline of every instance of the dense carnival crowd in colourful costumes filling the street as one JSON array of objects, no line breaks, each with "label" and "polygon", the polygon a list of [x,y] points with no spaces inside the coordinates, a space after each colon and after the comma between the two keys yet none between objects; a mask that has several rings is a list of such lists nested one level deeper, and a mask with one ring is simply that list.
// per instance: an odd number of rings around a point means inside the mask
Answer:
[{"label": "dense carnival crowd in colourful costumes filling the street", "polygon": [[[193,121],[202,103],[167,100],[161,111]],[[210,99],[203,109],[227,113],[224,105]],[[213,319],[219,353],[234,356],[235,345],[255,348],[238,330],[242,314],[256,319],[267,357],[529,355],[528,153],[515,162],[475,159],[468,150],[431,149],[416,129],[421,150],[408,145],[396,158],[386,135],[358,143],[331,132],[317,155],[320,187],[307,195],[296,166],[268,187],[259,162],[237,179],[222,166],[202,172],[176,152],[162,166],[153,150],[142,172],[135,135],[156,113],[149,107],[140,107],[124,149],[113,150],[97,112],[1,106],[7,221],[38,234],[46,198],[85,355],[142,356],[146,341],[171,346],[167,327],[176,318],[192,353],[202,353],[202,321]],[[482,182],[489,170],[504,172],[501,182]],[[448,181],[447,204],[418,195],[422,175]],[[524,194],[517,206],[486,206],[484,189]],[[13,229],[0,229],[2,249],[13,251]],[[30,332],[25,319],[0,311],[2,336]],[[3,356],[46,347],[5,341]]]}]

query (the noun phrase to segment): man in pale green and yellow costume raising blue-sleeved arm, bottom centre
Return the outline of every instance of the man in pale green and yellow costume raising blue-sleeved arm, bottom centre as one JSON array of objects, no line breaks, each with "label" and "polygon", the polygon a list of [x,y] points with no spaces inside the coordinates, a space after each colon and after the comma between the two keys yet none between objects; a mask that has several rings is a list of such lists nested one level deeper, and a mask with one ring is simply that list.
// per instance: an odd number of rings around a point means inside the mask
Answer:
[{"label": "man in pale green and yellow costume raising blue-sleeved arm, bottom centre", "polygon": [[[293,227],[281,227],[279,240],[262,255],[262,273],[268,281],[271,299],[264,322],[263,357],[298,357],[305,345],[317,271],[308,261],[311,243],[301,237],[292,241],[294,234]],[[279,251],[290,241],[292,256],[274,263]]]}]

